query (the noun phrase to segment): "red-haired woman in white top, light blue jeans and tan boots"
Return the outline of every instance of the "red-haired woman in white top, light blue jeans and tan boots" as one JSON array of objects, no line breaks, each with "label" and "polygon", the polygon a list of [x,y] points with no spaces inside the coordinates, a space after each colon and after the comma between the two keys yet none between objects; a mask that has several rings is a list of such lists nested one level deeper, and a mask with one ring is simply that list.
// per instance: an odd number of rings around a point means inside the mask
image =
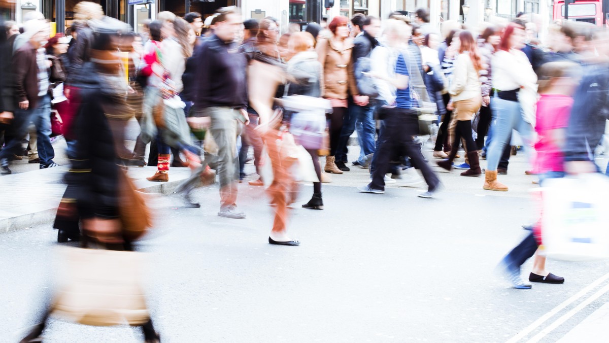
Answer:
[{"label": "red-haired woman in white top, light blue jeans and tan boots", "polygon": [[512,130],[517,130],[522,136],[527,153],[531,146],[537,75],[527,56],[520,50],[524,46],[524,38],[524,27],[509,24],[501,37],[499,51],[495,52],[491,60],[492,82],[496,90],[491,101],[495,124],[493,140],[487,149],[487,170],[482,187],[490,191],[508,190],[507,186],[497,181],[497,166],[505,145],[509,144]]}]

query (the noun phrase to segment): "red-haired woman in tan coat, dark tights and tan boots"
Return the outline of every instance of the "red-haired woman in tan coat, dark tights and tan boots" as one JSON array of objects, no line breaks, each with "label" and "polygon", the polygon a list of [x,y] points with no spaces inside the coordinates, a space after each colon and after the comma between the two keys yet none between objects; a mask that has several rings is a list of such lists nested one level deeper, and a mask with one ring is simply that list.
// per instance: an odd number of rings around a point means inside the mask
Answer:
[{"label": "red-haired woman in tan coat, dark tights and tan boots", "polygon": [[332,32],[330,38],[320,38],[317,41],[317,58],[323,66],[322,95],[332,103],[332,113],[327,117],[330,122],[330,155],[326,157],[326,172],[342,174],[335,163],[334,155],[339,143],[340,131],[343,126],[343,117],[347,113],[348,97],[353,96],[356,105],[368,104],[368,97],[357,94],[357,85],[353,76],[353,63],[351,52],[353,40],[349,38],[348,19],[344,16],[335,16],[328,24]]}]

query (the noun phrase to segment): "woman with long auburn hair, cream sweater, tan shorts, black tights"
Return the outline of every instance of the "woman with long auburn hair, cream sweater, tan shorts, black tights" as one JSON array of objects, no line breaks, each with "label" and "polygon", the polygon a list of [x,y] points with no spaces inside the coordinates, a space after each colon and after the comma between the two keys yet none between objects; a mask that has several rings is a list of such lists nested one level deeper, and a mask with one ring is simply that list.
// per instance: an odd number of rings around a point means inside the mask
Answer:
[{"label": "woman with long auburn hair, cream sweater, tan shorts, black tights", "polygon": [[[452,83],[449,90],[451,94],[452,115],[457,121],[454,141],[452,141],[451,154],[446,160],[438,162],[438,166],[452,169],[452,161],[457,155],[459,141],[465,139],[465,148],[470,160],[470,169],[461,173],[461,176],[479,176],[482,174],[478,160],[476,143],[471,135],[471,119],[482,105],[482,90],[480,87],[479,71],[482,61],[478,53],[476,41],[470,31],[459,34],[459,55],[455,60]],[[449,107],[450,104],[449,104]]]}]

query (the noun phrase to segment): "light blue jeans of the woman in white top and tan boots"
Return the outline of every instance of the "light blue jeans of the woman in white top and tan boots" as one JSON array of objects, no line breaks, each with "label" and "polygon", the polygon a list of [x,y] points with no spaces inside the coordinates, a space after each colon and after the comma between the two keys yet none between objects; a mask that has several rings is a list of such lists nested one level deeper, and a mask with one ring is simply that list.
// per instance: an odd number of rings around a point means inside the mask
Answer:
[{"label": "light blue jeans of the woman in white top and tan boots", "polygon": [[493,139],[487,150],[487,169],[496,171],[505,146],[510,144],[509,139],[513,129],[522,136],[524,152],[529,154],[533,127],[529,122],[524,121],[520,104],[517,101],[507,101],[499,99],[499,97],[493,97],[491,107],[493,108],[494,126],[492,129]]}]

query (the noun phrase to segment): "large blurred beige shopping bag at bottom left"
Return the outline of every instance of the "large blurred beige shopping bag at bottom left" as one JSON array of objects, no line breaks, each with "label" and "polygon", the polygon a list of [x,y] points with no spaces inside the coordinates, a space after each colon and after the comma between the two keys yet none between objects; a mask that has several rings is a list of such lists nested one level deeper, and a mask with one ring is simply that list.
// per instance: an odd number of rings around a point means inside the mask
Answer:
[{"label": "large blurred beige shopping bag at bottom left", "polygon": [[141,285],[145,254],[58,247],[54,315],[85,325],[142,325],[149,320]]}]

